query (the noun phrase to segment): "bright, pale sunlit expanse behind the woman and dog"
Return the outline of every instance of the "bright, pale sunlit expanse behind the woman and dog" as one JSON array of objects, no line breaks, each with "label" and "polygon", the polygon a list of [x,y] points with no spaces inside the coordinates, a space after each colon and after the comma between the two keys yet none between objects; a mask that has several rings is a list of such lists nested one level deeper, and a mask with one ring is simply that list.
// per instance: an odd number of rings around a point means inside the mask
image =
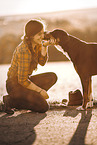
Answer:
[{"label": "bright, pale sunlit expanse behind the woman and dog", "polygon": [[[0,99],[6,92],[6,78],[9,65],[0,65]],[[62,99],[68,99],[68,92],[80,89],[82,91],[80,78],[74,70],[73,64],[68,62],[48,62],[45,66],[39,66],[33,75],[43,72],[55,72],[58,76],[56,84],[48,91],[49,103],[58,102]],[[93,97],[97,98],[97,76],[92,77]]]}]

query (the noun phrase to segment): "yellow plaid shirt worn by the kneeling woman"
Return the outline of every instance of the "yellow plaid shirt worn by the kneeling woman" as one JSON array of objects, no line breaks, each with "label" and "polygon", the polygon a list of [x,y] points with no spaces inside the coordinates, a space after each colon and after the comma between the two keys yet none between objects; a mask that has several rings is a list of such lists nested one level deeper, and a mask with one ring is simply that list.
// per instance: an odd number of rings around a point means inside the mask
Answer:
[{"label": "yellow plaid shirt worn by the kneeling woman", "polygon": [[31,54],[27,44],[24,42],[15,49],[11,61],[11,66],[8,70],[8,78],[18,78],[18,83],[24,87],[30,85],[29,76],[33,70],[37,68],[37,65],[45,65],[47,61],[47,55],[41,55],[42,46],[38,46],[35,50],[35,55]]}]

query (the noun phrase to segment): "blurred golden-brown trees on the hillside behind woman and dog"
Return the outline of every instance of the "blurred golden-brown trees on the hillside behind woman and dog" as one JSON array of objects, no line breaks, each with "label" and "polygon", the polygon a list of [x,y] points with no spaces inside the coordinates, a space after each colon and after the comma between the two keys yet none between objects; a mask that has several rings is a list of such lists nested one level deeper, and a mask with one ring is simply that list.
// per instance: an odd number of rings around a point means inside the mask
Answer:
[{"label": "blurred golden-brown trees on the hillside behind woman and dog", "polygon": [[[86,11],[87,12],[87,11]],[[61,17],[53,18],[52,14],[50,17],[41,16],[41,19],[46,24],[46,30],[52,31],[55,28],[60,28],[67,31],[69,34],[74,35],[87,42],[97,42],[97,19],[89,17],[89,11],[86,16],[81,16],[82,13],[68,13],[60,15]],[[91,11],[90,11],[91,14]],[[93,11],[93,14],[96,13]],[[76,15],[76,17],[74,17]],[[32,15],[30,15],[33,19]],[[0,18],[0,64],[10,63],[13,51],[16,46],[21,42],[21,36],[24,33],[24,26],[30,19],[29,16],[18,17],[4,17]],[[37,17],[36,17],[37,18]],[[11,20],[10,20],[11,19]],[[64,61],[68,60],[61,52],[55,49],[54,46],[49,47],[49,61]]]}]

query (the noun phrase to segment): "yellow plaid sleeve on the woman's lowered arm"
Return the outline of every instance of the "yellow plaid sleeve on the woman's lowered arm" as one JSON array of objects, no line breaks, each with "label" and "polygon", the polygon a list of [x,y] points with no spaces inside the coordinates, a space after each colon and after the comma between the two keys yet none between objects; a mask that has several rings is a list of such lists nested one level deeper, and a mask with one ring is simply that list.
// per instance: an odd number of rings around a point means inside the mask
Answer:
[{"label": "yellow plaid sleeve on the woman's lowered arm", "polygon": [[30,85],[28,79],[31,55],[23,51],[18,55],[18,82],[24,87]]}]

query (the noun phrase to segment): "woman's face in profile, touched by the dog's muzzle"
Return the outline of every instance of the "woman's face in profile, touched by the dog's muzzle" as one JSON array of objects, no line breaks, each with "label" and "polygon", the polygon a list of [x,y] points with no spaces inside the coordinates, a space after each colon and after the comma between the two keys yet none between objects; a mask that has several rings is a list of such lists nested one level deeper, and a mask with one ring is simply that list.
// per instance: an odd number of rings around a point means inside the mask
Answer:
[{"label": "woman's face in profile, touched by the dog's muzzle", "polygon": [[33,37],[33,41],[37,44],[41,44],[42,39],[44,38],[44,30],[42,29]]}]

